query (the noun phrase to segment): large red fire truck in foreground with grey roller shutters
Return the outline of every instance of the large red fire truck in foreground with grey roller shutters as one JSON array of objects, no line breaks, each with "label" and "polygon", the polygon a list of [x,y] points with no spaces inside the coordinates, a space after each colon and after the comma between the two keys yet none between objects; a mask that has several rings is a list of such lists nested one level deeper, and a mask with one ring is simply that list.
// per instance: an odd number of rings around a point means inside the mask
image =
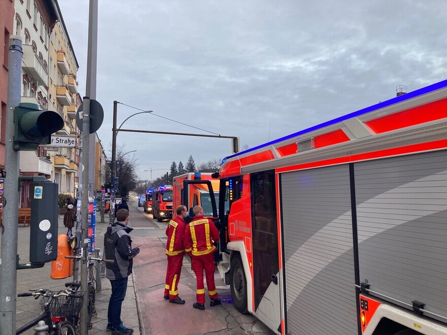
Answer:
[{"label": "large red fire truck in foreground with grey roller shutters", "polygon": [[219,274],[278,334],[447,334],[447,81],[223,159]]}]

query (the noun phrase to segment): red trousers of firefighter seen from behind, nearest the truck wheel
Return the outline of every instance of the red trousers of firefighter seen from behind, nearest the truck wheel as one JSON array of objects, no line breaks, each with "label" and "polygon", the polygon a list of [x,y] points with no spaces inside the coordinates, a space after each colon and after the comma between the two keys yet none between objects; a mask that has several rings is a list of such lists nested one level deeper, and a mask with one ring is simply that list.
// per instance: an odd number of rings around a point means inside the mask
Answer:
[{"label": "red trousers of firefighter seen from behind, nearest the truck wheel", "polygon": [[209,253],[206,255],[194,256],[191,258],[191,265],[197,278],[196,299],[199,304],[205,304],[205,287],[203,285],[203,270],[205,270],[206,286],[208,288],[208,295],[211,299],[218,298],[216,285],[214,284],[214,271],[216,265],[214,264],[214,255]]}]

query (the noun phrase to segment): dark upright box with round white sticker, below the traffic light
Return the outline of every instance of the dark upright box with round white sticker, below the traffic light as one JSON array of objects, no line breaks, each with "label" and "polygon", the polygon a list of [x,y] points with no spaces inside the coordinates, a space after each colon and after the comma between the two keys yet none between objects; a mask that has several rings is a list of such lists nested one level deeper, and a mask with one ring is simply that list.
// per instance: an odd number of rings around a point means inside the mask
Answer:
[{"label": "dark upright box with round white sticker, below the traffic light", "polygon": [[57,258],[57,198],[57,184],[49,181],[31,183],[31,263],[46,263]]}]

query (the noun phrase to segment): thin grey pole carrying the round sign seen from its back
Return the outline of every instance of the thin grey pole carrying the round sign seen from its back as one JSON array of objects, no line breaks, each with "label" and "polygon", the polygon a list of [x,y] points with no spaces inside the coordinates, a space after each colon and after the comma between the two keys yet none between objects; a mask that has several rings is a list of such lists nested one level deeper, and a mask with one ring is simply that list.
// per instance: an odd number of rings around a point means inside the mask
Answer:
[{"label": "thin grey pole carrying the round sign seen from its back", "polygon": [[87,327],[87,303],[88,303],[88,282],[87,282],[87,256],[88,256],[88,152],[89,152],[89,136],[90,136],[90,98],[84,96],[83,99],[84,114],[82,117],[82,143],[83,155],[82,165],[84,173],[82,174],[82,223],[81,223],[81,290],[86,292],[80,313],[80,333],[88,334]]}]

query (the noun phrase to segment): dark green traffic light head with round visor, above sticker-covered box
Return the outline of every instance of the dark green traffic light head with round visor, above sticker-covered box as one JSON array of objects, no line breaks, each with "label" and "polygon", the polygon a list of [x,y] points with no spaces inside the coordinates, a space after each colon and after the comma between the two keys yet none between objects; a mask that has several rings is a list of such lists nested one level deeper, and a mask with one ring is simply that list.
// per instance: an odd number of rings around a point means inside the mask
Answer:
[{"label": "dark green traffic light head with round visor, above sticker-covered box", "polygon": [[51,134],[62,129],[63,120],[52,111],[41,111],[36,104],[22,103],[14,108],[15,151],[36,150],[39,144],[50,144]]}]

